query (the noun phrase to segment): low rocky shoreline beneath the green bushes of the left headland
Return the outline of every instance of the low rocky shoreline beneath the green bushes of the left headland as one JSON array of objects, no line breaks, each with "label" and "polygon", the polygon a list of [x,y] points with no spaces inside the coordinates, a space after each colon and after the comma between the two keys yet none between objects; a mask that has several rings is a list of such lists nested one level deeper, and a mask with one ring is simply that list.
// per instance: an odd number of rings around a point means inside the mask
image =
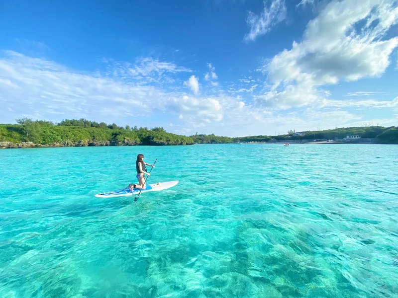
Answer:
[{"label": "low rocky shoreline beneath the green bushes of the left headland", "polygon": [[60,147],[103,147],[103,146],[178,146],[178,145],[190,145],[184,143],[172,143],[168,141],[157,141],[148,140],[146,143],[139,143],[135,140],[124,140],[121,142],[117,141],[87,141],[80,140],[79,142],[60,142],[51,144],[35,144],[32,142],[0,142],[0,149],[17,149],[17,148],[60,148]]}]

